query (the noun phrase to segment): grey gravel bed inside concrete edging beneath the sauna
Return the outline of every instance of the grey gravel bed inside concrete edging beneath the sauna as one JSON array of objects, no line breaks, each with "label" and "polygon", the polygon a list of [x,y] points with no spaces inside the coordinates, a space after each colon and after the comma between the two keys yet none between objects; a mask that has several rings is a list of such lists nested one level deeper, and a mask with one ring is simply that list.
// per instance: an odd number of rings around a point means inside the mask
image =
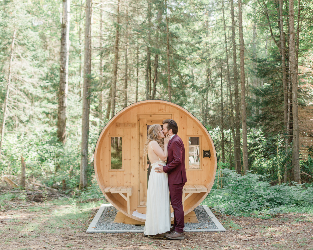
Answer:
[{"label": "grey gravel bed inside concrete edging beneath the sauna", "polygon": [[[114,222],[117,209],[113,206],[105,207],[94,230],[144,230],[144,226],[129,225]],[[211,217],[204,210],[203,206],[194,209],[199,223],[185,223],[185,230],[190,229],[217,229]]]}]

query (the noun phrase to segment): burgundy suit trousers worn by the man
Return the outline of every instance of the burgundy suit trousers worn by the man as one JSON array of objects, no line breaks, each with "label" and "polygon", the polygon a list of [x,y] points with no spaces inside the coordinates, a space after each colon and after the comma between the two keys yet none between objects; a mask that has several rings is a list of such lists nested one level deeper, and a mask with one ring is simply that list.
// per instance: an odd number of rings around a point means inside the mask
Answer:
[{"label": "burgundy suit trousers worn by the man", "polygon": [[174,225],[175,231],[184,232],[185,220],[184,220],[184,209],[182,206],[182,189],[185,185],[184,183],[168,185],[171,204],[174,210]]}]

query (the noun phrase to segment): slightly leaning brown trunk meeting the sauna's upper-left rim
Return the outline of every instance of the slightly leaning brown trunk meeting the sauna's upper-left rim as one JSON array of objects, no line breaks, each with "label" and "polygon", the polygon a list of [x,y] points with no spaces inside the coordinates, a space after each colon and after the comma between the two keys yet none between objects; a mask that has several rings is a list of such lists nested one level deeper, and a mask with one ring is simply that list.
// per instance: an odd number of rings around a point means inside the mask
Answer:
[{"label": "slightly leaning brown trunk meeting the sauna's upper-left rim", "polygon": [[117,83],[117,63],[118,63],[118,51],[119,51],[119,39],[120,39],[120,7],[121,0],[118,0],[117,5],[117,17],[116,17],[116,34],[114,45],[114,65],[113,65],[113,83],[112,83],[112,101],[111,101],[111,118],[115,115],[115,98],[116,98],[116,83]]}]

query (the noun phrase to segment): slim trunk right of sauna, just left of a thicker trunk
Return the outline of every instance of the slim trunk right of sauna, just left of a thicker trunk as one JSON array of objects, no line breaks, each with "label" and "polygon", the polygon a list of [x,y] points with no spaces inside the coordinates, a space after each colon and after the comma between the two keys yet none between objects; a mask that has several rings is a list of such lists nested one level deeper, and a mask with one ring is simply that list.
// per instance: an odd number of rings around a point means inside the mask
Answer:
[{"label": "slim trunk right of sauna, just left of a thicker trunk", "polygon": [[235,15],[234,3],[230,0],[230,12],[232,16],[232,43],[233,43],[233,80],[234,80],[234,95],[235,95],[235,128],[236,139],[234,141],[234,161],[235,170],[241,173],[241,157],[240,157],[240,113],[239,113],[239,91],[238,91],[238,71],[237,71],[237,53],[236,53],[236,36],[235,36]]}]

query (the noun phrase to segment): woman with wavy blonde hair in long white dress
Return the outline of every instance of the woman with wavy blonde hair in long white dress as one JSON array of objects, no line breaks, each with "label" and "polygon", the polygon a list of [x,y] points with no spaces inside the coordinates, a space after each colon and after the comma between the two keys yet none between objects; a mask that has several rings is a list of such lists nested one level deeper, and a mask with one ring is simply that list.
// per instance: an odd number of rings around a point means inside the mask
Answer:
[{"label": "woman with wavy blonde hair in long white dress", "polygon": [[164,233],[169,231],[171,226],[167,173],[156,173],[154,171],[158,164],[166,165],[167,144],[170,141],[170,137],[169,134],[166,137],[164,136],[159,124],[153,124],[148,130],[144,148],[144,155],[148,153],[151,162],[144,234],[151,239],[164,238]]}]

